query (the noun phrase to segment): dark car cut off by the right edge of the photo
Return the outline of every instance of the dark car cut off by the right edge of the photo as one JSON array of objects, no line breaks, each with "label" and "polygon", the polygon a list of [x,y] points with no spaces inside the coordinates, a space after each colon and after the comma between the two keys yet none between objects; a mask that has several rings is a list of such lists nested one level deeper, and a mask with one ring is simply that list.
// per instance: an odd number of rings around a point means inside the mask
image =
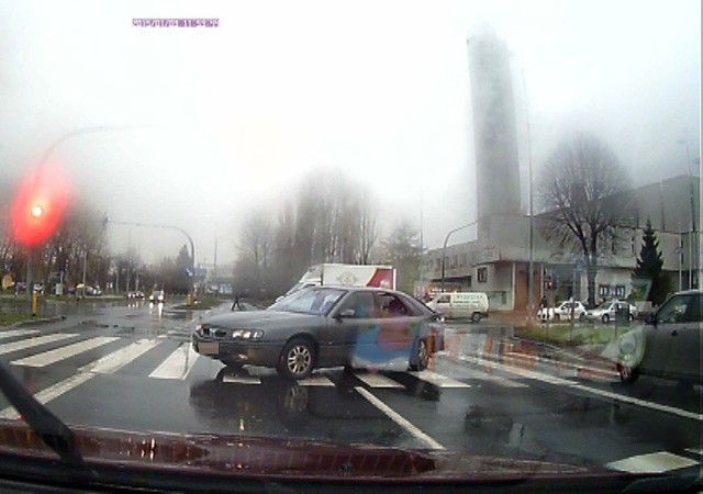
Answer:
[{"label": "dark car cut off by the right edge of the photo", "polygon": [[703,317],[700,290],[679,292],[620,338],[617,371],[625,383],[640,374],[701,383]]}]

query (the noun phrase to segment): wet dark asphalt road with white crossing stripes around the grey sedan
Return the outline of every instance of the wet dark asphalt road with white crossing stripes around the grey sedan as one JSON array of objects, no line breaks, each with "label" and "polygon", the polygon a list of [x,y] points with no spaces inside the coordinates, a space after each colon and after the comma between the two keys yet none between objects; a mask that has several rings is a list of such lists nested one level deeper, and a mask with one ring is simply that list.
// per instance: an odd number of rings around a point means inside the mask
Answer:
[{"label": "wet dark asphalt road with white crossing stripes around the grey sedan", "polygon": [[[126,302],[62,312],[0,329],[0,359],[68,424],[700,469],[700,388],[648,378],[624,386],[607,364],[517,340],[505,326],[450,324],[426,372],[331,369],[291,383],[193,353],[198,312]],[[0,417],[18,418],[4,396]]]}]

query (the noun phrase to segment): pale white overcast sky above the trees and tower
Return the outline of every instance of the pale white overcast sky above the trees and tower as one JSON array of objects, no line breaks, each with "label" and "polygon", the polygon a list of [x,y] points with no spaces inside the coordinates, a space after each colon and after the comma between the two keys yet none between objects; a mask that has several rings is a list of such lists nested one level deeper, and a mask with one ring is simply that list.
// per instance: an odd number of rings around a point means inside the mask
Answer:
[{"label": "pale white overcast sky above the trees and tower", "polygon": [[[437,247],[475,220],[477,26],[513,54],[523,179],[528,114],[536,177],[562,136],[589,131],[641,184],[688,172],[679,141],[700,154],[700,0],[0,1],[2,178],[77,132],[49,160],[94,207],[185,228],[197,262],[216,238],[222,262],[250,207],[276,211],[308,170],[335,167],[373,189],[384,233],[403,216],[420,228],[422,207]],[[81,133],[94,126],[108,130]],[[185,243],[110,232],[147,261]]]}]

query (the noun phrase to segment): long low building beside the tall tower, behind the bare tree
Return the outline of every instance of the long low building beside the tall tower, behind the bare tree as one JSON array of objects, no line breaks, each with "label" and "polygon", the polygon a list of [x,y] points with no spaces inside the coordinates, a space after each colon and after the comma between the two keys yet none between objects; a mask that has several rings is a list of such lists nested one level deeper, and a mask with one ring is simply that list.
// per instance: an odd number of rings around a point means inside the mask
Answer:
[{"label": "long low building beside the tall tower, behind the bare tree", "polygon": [[[690,199],[693,189],[693,215],[684,198]],[[700,225],[701,186],[698,177],[680,176],[662,182],[647,184],[632,191],[635,223],[620,229],[616,240],[601,245],[599,269],[595,277],[596,301],[627,297],[632,290],[632,273],[639,256],[647,220],[659,242],[663,270],[669,274],[674,290],[699,288],[701,279]],[[658,216],[654,216],[652,213]],[[661,218],[669,221],[669,226]],[[692,232],[695,221],[698,232]],[[673,229],[670,225],[676,225]],[[688,225],[679,229],[679,225]],[[662,227],[663,226],[663,227]],[[533,238],[533,301],[543,295],[550,299],[577,300],[588,297],[588,281],[583,258],[578,251],[560,250],[545,238],[549,225],[539,216],[534,217]],[[487,236],[475,242],[447,246],[445,283],[467,291],[486,292],[492,310],[527,310],[529,263],[529,217],[524,215],[493,215],[484,222]],[[442,283],[442,250],[425,254],[422,269],[424,280],[435,285]],[[545,276],[550,276],[557,287],[545,290]]]}]

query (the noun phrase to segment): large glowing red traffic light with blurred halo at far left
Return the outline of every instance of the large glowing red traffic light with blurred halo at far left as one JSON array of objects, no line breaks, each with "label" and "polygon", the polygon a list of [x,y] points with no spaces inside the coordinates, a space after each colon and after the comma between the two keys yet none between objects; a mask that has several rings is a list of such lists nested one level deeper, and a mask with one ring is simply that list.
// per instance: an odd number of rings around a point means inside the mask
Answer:
[{"label": "large glowing red traffic light with blurred halo at far left", "polygon": [[12,202],[12,235],[32,247],[45,242],[60,224],[70,193],[68,181],[55,167],[43,167],[24,176]]}]

